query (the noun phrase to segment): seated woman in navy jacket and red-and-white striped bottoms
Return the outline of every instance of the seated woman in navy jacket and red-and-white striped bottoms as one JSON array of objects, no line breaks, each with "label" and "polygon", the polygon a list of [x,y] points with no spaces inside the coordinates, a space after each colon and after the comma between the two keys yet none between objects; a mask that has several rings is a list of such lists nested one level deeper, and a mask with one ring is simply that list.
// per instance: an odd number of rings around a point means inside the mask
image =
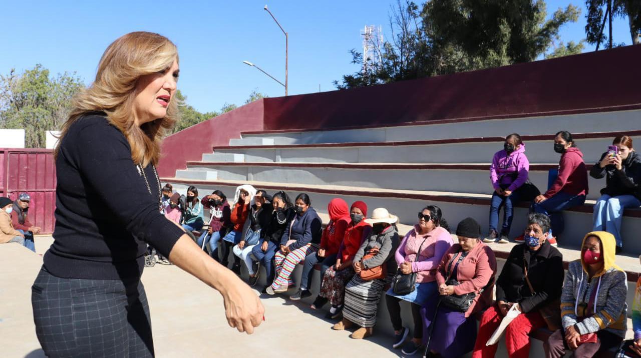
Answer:
[{"label": "seated woman in navy jacket and red-and-white striped bottoms", "polygon": [[292,272],[306,256],[318,250],[322,221],[312,207],[312,200],[306,193],[296,197],[296,216],[283,232],[280,250],[274,255],[276,279],[265,289],[268,295],[287,291],[294,285]]}]

